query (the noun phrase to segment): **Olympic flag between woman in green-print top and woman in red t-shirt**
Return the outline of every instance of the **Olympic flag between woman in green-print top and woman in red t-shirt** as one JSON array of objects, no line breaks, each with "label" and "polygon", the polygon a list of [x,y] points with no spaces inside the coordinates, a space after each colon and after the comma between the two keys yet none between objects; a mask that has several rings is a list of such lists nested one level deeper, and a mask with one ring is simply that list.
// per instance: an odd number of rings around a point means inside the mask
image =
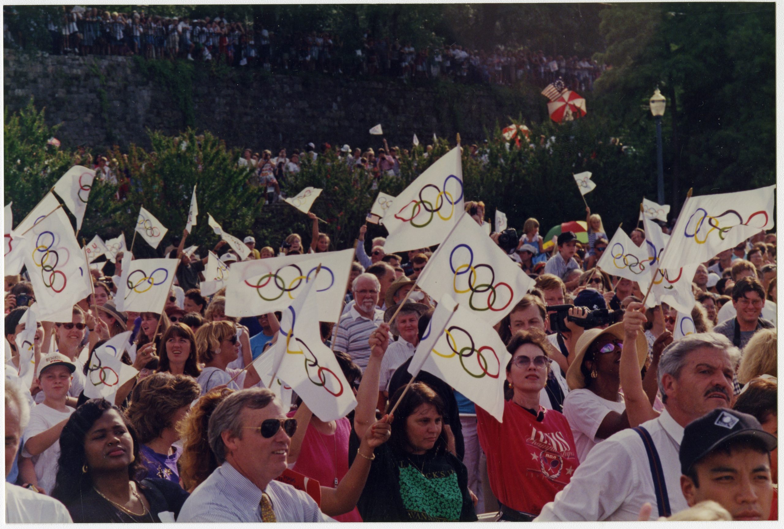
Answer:
[{"label": "Olympic flag between woman in green-print top and woman in red t-shirt", "polygon": [[[419,353],[417,347],[415,357]],[[434,346],[423,356],[424,371],[436,375],[503,422],[503,382],[511,355],[490,324],[461,303]]]}]

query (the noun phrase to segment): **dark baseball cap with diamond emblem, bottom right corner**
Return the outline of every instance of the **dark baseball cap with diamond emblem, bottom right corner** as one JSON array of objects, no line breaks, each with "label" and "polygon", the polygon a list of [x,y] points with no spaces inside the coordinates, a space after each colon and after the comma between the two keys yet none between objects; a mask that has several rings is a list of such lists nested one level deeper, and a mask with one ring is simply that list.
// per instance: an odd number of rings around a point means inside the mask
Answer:
[{"label": "dark baseball cap with diamond emblem, bottom right corner", "polygon": [[681,441],[681,473],[688,473],[691,466],[716,450],[720,444],[737,437],[759,439],[768,451],[776,447],[776,438],[762,429],[753,415],[728,408],[716,408],[688,423]]}]

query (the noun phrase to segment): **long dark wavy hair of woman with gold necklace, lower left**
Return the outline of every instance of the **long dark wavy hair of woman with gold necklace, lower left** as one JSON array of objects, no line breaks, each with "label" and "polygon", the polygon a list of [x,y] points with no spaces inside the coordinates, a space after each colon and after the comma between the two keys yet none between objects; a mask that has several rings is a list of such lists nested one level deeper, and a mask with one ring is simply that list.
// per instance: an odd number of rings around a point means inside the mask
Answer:
[{"label": "long dark wavy hair of woman with gold necklace, lower left", "polygon": [[55,478],[52,497],[60,500],[65,505],[70,505],[77,498],[87,494],[93,487],[90,473],[82,473],[82,466],[87,462],[85,455],[85,436],[96,421],[109,410],[115,410],[125,422],[125,427],[133,440],[133,461],[128,466],[128,477],[138,484],[147,475],[147,470],[142,466],[140,443],[128,418],[119,408],[105,399],[90,399],[82,404],[68,418],[68,422],[60,433],[60,457],[57,458],[57,476]]}]

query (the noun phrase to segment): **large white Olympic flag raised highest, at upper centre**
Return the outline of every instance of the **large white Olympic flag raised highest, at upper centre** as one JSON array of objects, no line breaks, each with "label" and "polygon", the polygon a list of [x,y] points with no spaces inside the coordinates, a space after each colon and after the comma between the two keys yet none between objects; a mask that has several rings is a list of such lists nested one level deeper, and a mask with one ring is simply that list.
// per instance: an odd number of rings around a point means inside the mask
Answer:
[{"label": "large white Olympic flag raised highest, at upper centre", "polygon": [[455,147],[397,195],[381,221],[389,231],[384,250],[406,252],[441,243],[464,208],[463,165]]}]

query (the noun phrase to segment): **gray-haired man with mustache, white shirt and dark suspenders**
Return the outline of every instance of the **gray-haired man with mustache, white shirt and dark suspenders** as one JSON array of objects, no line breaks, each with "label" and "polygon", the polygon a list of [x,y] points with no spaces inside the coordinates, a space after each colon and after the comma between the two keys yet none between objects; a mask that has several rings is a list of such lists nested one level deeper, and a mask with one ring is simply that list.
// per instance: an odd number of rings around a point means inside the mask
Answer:
[{"label": "gray-haired man with mustache, white shirt and dark suspenders", "polygon": [[[643,332],[640,307],[632,303],[624,316],[624,348],[636,346],[637,333]],[[726,337],[713,332],[688,335],[667,346],[657,377],[662,414],[593,447],[536,520],[637,520],[646,502],[654,505],[652,520],[686,509],[678,459],[684,428],[715,408],[731,408],[739,356]]]}]

